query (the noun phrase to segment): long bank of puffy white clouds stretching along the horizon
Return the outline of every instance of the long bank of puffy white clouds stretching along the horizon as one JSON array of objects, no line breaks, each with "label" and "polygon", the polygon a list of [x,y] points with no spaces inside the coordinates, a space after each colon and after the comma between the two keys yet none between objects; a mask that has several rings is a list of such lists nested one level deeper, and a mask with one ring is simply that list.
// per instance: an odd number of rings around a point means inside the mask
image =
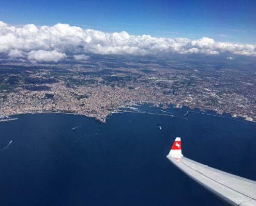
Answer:
[{"label": "long bank of puffy white clouds stretching along the horizon", "polygon": [[149,35],[133,36],[127,32],[106,33],[82,29],[68,24],[54,26],[8,26],[0,21],[0,53],[12,59],[31,62],[58,62],[72,55],[85,60],[84,54],[168,55],[205,54],[243,55],[256,57],[256,45],[216,42],[203,37],[155,38]]}]

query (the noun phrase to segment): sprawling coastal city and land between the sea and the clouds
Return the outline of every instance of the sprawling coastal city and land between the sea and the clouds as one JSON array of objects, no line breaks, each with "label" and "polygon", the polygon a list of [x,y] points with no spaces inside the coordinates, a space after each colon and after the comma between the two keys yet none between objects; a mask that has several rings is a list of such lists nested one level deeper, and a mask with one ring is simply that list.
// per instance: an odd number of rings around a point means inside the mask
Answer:
[{"label": "sprawling coastal city and land between the sea and the clouds", "polygon": [[255,121],[254,65],[115,56],[51,64],[0,61],[0,114],[67,112],[105,122],[120,107],[149,102]]}]

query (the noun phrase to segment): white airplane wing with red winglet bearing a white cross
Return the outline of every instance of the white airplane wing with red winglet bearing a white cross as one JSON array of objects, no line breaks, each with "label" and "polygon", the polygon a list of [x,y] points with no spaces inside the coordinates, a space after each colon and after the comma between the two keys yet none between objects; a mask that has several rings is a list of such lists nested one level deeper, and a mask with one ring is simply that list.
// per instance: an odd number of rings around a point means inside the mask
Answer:
[{"label": "white airplane wing with red winglet bearing a white cross", "polygon": [[176,138],[167,158],[186,175],[231,205],[256,205],[256,182],[195,162],[182,155]]}]

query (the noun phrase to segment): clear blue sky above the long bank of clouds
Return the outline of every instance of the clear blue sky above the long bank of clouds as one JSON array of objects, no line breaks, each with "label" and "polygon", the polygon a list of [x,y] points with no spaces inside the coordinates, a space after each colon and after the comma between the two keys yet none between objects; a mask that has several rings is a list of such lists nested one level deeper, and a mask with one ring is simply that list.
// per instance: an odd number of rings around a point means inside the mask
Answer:
[{"label": "clear blue sky above the long bank of clouds", "polygon": [[68,23],[154,37],[213,38],[256,44],[256,1],[1,1],[12,25]]}]

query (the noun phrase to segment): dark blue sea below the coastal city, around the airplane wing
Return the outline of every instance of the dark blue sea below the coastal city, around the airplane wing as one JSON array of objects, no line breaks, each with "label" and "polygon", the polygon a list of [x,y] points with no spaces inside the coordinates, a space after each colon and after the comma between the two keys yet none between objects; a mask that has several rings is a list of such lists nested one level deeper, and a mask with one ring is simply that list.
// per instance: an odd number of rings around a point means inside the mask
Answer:
[{"label": "dark blue sea below the coastal city, around the airplane wing", "polygon": [[225,205],[165,158],[176,136],[187,158],[256,180],[255,124],[210,111],[184,115],[185,107],[139,110],[187,119],[116,113],[102,124],[49,113],[0,122],[0,149],[12,140],[0,152],[0,204]]}]

